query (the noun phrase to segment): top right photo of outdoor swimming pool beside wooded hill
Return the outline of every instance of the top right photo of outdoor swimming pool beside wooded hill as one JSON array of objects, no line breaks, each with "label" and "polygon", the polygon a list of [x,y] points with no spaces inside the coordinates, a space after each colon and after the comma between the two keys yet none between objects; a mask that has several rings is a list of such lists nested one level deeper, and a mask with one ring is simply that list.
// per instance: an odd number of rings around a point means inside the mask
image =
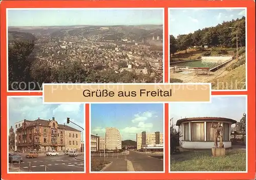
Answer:
[{"label": "top right photo of outdoor swimming pool beside wooded hill", "polygon": [[169,9],[169,43],[170,83],[246,89],[246,9]]}]

